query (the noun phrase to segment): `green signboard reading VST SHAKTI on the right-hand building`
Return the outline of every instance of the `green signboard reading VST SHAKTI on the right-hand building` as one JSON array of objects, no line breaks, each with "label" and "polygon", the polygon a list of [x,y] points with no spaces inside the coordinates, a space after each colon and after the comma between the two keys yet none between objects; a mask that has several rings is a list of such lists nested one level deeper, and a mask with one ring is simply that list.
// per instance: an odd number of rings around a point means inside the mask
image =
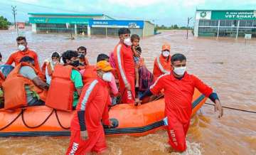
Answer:
[{"label": "green signboard reading VST SHAKTI on the right-hand building", "polygon": [[211,19],[256,20],[256,11],[211,11]]}]

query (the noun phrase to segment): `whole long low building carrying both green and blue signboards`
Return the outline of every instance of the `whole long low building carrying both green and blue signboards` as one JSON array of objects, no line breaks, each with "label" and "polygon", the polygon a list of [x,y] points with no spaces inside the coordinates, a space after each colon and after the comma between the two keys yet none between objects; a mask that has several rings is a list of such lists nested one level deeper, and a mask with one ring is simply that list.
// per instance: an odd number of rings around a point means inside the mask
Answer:
[{"label": "whole long low building carrying both green and blue signboards", "polygon": [[105,14],[41,14],[28,13],[35,33],[75,33],[117,36],[119,28],[129,28],[139,36],[154,35],[154,24],[149,21],[115,20]]}]

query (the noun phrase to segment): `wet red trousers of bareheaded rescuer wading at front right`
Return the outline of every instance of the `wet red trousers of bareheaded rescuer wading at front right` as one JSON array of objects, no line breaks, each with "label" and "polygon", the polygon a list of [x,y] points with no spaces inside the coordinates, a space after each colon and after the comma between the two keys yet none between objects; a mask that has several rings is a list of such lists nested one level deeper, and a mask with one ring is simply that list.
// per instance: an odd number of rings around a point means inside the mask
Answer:
[{"label": "wet red trousers of bareheaded rescuer wading at front right", "polygon": [[166,127],[169,136],[169,144],[176,151],[186,150],[186,133],[188,132],[189,121],[181,123],[176,117],[168,117]]}]

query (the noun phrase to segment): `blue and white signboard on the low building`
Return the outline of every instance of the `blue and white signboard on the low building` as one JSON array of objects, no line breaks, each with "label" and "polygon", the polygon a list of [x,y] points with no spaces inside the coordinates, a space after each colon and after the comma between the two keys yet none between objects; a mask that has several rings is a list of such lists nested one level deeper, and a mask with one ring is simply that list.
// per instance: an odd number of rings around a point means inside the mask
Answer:
[{"label": "blue and white signboard on the low building", "polygon": [[144,21],[90,20],[89,26],[104,28],[143,28]]}]

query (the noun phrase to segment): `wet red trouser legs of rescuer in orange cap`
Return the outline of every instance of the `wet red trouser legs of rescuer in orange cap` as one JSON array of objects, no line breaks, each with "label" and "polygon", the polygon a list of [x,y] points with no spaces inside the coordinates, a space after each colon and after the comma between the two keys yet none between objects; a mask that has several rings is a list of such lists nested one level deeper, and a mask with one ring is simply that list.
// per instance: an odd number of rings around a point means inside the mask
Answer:
[{"label": "wet red trouser legs of rescuer in orange cap", "polygon": [[95,132],[88,131],[88,139],[85,141],[80,138],[80,130],[71,130],[70,144],[66,155],[86,154],[90,151],[100,153],[105,149],[107,149],[107,145],[102,126]]}]

